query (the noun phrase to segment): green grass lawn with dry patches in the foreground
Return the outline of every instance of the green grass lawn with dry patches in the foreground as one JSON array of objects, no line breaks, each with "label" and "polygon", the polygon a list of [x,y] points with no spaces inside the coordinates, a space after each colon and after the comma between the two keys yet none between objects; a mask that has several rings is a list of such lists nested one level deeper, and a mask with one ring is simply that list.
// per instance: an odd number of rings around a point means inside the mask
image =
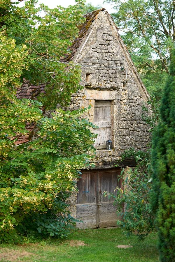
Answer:
[{"label": "green grass lawn with dry patches in the foreground", "polygon": [[138,242],[136,236],[127,238],[119,228],[77,230],[69,240],[0,245],[0,261],[158,261],[156,242],[155,233]]}]

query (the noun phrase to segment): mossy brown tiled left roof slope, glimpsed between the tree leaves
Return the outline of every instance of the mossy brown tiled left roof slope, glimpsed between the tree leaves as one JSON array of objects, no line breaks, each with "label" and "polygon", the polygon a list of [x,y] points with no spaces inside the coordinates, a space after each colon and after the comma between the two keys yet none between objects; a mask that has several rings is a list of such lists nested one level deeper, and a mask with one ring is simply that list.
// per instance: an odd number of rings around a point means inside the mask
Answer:
[{"label": "mossy brown tiled left roof slope, glimpsed between the tree leaves", "polygon": [[[77,49],[80,47],[83,39],[86,37],[86,33],[88,32],[88,29],[90,28],[92,22],[96,19],[98,13],[100,11],[104,11],[105,8],[101,8],[99,10],[93,11],[92,13],[88,13],[85,15],[86,21],[79,26],[79,34],[78,37],[74,40],[72,46],[70,47],[71,54],[66,55],[61,61],[71,61],[77,51]],[[17,90],[16,96],[17,98],[30,98],[32,100],[37,100],[37,97],[40,93],[45,93],[44,91],[45,84],[40,85],[32,85],[28,80],[24,80],[24,83],[22,86]],[[31,131],[34,130],[35,124],[34,123],[27,123],[26,129],[30,132],[29,135],[21,135],[17,137],[17,141],[15,141],[16,145],[26,143],[30,140],[31,137]]]}]

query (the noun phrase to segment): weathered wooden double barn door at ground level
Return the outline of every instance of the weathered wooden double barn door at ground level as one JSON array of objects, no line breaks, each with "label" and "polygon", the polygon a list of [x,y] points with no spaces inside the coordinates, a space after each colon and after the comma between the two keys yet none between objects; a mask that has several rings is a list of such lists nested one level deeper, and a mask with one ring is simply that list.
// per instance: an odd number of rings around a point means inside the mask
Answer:
[{"label": "weathered wooden double barn door at ground level", "polygon": [[115,188],[121,187],[118,182],[120,168],[83,170],[81,178],[77,181],[78,194],[76,205],[76,217],[83,221],[77,223],[77,227],[101,228],[116,226],[118,219],[113,205],[114,199],[104,197],[103,192],[115,194]]}]

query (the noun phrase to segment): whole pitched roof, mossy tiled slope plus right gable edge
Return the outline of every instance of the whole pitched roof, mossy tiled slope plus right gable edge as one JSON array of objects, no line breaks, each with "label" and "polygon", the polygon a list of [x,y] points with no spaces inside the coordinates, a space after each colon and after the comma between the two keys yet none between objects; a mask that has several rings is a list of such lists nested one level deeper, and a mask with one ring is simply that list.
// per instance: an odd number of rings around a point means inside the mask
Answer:
[{"label": "whole pitched roof, mossy tiled slope plus right gable edge", "polygon": [[[86,41],[88,40],[88,37],[92,31],[92,27],[94,26],[93,22],[96,22],[98,20],[98,15],[99,13],[104,12],[105,15],[107,16],[107,19],[109,21],[109,23],[111,24],[111,26],[113,27],[113,29],[115,30],[116,33],[116,37],[120,42],[120,45],[123,49],[123,52],[125,53],[125,56],[128,59],[128,62],[130,64],[130,66],[133,68],[133,71],[135,73],[136,78],[138,79],[138,82],[140,83],[141,89],[143,90],[143,93],[145,94],[145,96],[148,98],[148,92],[146,91],[145,86],[143,85],[139,74],[132,62],[132,59],[130,57],[130,54],[125,46],[125,44],[123,43],[119,33],[118,33],[118,28],[115,25],[115,23],[113,22],[113,19],[111,17],[111,15],[108,14],[108,12],[105,10],[105,8],[101,8],[99,10],[93,11],[92,13],[88,13],[87,15],[85,15],[85,22],[83,24],[81,24],[79,26],[79,33],[78,33],[78,37],[74,40],[73,44],[70,47],[71,50],[71,54],[68,54],[66,56],[64,56],[64,58],[62,58],[60,61],[62,62],[69,62],[69,61],[76,61],[76,54],[80,54],[81,50],[83,49],[83,46],[85,45]],[[78,57],[78,56],[77,56]],[[45,93],[44,91],[45,88],[45,84],[39,84],[39,85],[33,85],[30,84],[29,81],[25,80],[24,83],[22,84],[22,86],[17,90],[17,98],[21,99],[21,98],[30,98],[32,100],[36,100],[38,95],[40,93]],[[31,123],[27,123],[27,127],[26,127],[30,132],[32,130],[34,130],[35,125],[31,124]],[[21,144],[21,143],[25,143],[29,141],[29,136],[21,136],[18,137],[18,140],[15,142],[15,144]]]}]

